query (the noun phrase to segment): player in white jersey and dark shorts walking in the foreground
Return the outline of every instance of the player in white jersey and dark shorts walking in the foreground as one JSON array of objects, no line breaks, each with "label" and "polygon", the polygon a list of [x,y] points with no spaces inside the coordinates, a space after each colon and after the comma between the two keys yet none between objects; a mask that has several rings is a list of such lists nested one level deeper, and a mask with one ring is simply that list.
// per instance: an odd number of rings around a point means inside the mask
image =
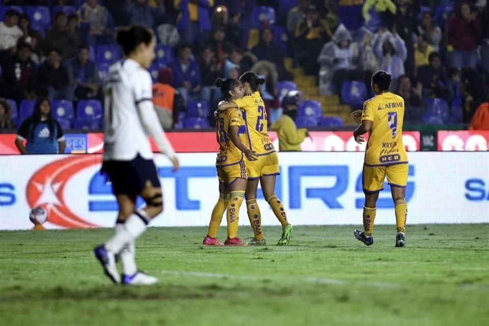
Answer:
[{"label": "player in white jersey and dark shorts walking in the foreground", "polygon": [[[117,34],[125,58],[111,66],[105,81],[105,134],[101,172],[112,182],[119,204],[115,234],[94,252],[105,275],[114,283],[153,284],[158,280],[138,270],[134,241],[149,221],[163,210],[161,184],[148,140],[150,134],[161,153],[178,170],[175,152],[159,124],[152,102],[152,79],[146,70],[154,59],[155,38],[151,30],[131,25]],[[146,207],[137,209],[137,196]],[[122,278],[116,255],[123,265]]]}]

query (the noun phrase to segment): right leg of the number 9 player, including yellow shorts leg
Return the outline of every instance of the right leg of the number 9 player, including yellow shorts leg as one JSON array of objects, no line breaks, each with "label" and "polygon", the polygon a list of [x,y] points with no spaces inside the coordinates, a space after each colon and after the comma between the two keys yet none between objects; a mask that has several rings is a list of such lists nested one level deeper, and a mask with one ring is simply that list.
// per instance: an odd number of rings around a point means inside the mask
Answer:
[{"label": "right leg of the number 9 player, including yellow shorts leg", "polygon": [[392,200],[396,214],[396,247],[406,244],[406,220],[408,218],[408,203],[405,200],[406,184],[408,184],[409,166],[398,164],[387,169],[387,181],[391,186]]}]

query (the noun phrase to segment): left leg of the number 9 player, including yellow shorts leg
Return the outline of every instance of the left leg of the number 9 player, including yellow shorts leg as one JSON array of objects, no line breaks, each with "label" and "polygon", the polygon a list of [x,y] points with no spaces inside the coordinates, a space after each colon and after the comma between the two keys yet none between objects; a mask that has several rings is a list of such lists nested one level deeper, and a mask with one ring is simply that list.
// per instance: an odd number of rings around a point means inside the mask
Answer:
[{"label": "left leg of the number 9 player, including yellow shorts leg", "polygon": [[367,246],[373,244],[373,226],[375,215],[377,214],[378,193],[384,189],[386,176],[385,167],[366,167],[363,168],[362,184],[365,194],[363,206],[363,231],[355,230],[355,238],[362,241]]}]

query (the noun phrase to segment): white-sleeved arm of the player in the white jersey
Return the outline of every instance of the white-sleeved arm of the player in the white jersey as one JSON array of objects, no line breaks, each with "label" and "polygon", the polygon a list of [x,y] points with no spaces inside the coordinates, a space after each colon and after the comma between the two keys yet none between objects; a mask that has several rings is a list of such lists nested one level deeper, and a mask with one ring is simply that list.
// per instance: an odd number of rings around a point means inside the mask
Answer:
[{"label": "white-sleeved arm of the player in the white jersey", "polygon": [[173,150],[172,144],[168,141],[165,131],[159,123],[158,115],[154,111],[152,83],[149,73],[141,74],[141,83],[139,87],[134,88],[135,102],[138,106],[141,121],[145,130],[153,137],[161,153],[167,155],[173,163],[173,171],[179,168],[179,162]]}]

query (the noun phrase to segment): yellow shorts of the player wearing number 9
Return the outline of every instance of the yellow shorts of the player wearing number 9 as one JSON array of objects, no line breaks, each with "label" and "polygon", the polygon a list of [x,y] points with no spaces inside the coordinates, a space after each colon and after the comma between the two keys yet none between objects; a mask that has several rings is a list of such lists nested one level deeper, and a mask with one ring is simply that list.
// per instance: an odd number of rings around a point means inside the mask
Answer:
[{"label": "yellow shorts of the player wearing number 9", "polygon": [[367,167],[363,166],[363,191],[366,194],[376,193],[384,189],[384,180],[394,187],[404,188],[408,184],[408,164],[395,164],[390,166]]}]

